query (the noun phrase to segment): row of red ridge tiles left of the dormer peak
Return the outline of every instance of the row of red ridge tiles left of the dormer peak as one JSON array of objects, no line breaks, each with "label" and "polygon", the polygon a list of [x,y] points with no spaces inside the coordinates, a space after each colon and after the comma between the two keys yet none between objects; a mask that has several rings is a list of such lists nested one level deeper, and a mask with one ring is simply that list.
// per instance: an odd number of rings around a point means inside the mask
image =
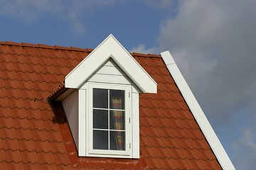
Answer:
[{"label": "row of red ridge tiles left of the dormer peak", "polygon": [[12,41],[0,41],[1,45],[13,45],[21,47],[38,47],[38,48],[47,48],[53,50],[69,50],[69,51],[80,51],[80,52],[92,52],[92,48],[79,48],[79,47],[64,47],[60,45],[45,45],[45,44],[32,44],[28,42],[12,42]]}]

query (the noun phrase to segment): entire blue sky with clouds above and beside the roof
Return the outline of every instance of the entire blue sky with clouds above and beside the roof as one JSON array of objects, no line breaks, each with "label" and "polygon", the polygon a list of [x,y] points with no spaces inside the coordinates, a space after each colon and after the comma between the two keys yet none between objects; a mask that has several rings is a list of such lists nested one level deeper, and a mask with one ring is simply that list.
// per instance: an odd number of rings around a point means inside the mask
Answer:
[{"label": "entire blue sky with clouds above and beside the roof", "polygon": [[255,0],[0,0],[1,41],[169,50],[236,169],[256,167]]}]

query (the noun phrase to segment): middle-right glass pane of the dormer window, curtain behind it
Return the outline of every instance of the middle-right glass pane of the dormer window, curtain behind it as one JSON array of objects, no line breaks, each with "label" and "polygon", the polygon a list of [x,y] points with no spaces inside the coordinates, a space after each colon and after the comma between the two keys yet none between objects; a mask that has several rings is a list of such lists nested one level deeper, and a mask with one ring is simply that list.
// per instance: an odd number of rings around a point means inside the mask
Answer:
[{"label": "middle-right glass pane of the dormer window, curtain behind it", "polygon": [[110,111],[110,129],[124,130],[124,111]]}]

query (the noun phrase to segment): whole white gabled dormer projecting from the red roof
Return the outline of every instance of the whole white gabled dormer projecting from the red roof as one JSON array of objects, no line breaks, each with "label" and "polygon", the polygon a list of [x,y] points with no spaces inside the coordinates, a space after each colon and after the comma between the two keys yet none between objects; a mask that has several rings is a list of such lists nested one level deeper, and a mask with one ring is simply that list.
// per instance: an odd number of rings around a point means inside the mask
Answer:
[{"label": "whole white gabled dormer projecting from the red roof", "polygon": [[156,82],[109,35],[65,77],[62,100],[80,157],[139,158],[139,93]]}]

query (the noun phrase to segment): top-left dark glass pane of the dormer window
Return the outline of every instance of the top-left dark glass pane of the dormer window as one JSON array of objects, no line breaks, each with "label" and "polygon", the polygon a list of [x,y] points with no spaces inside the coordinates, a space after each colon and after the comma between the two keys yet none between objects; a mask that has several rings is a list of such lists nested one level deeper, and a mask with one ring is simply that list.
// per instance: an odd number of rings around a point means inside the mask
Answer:
[{"label": "top-left dark glass pane of the dormer window", "polygon": [[93,107],[107,108],[107,89],[93,89]]}]

